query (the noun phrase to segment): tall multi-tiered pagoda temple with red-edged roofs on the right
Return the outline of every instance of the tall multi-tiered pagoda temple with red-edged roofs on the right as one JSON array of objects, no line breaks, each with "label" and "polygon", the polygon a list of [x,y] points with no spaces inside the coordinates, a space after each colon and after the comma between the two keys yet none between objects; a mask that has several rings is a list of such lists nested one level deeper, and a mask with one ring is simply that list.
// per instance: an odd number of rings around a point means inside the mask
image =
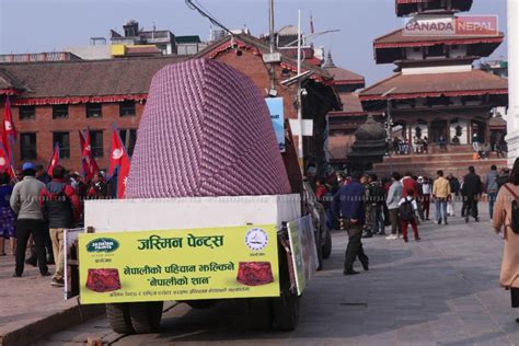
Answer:
[{"label": "tall multi-tiered pagoda temple with red-edged roofs on the right", "polygon": [[[461,155],[472,152],[474,134],[491,145],[505,135],[492,109],[508,104],[508,81],[473,66],[494,53],[504,34],[492,25],[460,32],[460,21],[472,18],[458,13],[471,7],[472,0],[395,0],[404,26],[373,43],[376,62],[394,64],[395,74],[360,92],[366,112],[385,114],[392,138],[427,137],[429,153],[442,138]],[[449,24],[453,30],[442,31]],[[427,169],[431,174],[436,168]]]}]

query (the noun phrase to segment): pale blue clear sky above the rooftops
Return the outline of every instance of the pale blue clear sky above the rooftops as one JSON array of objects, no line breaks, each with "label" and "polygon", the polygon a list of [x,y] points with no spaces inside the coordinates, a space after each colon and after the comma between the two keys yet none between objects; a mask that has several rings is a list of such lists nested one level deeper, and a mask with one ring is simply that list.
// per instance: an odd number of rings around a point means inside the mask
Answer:
[{"label": "pale blue clear sky above the rooftops", "polygon": [[[246,25],[253,35],[268,30],[268,0],[198,0],[230,28]],[[393,65],[377,66],[372,41],[402,26],[394,13],[394,0],[275,0],[276,28],[297,24],[302,11],[303,30],[309,32],[310,13],[315,31],[331,28],[315,41],[332,49],[337,66],[364,74],[368,84],[388,77]],[[474,0],[471,14],[497,14],[506,33],[506,0]],[[0,54],[61,50],[88,45],[89,38],[108,38],[111,28],[135,19],[145,28],[153,23],[175,35],[209,36],[210,23],[189,10],[184,0],[0,0]],[[506,44],[493,58],[506,58]]]}]

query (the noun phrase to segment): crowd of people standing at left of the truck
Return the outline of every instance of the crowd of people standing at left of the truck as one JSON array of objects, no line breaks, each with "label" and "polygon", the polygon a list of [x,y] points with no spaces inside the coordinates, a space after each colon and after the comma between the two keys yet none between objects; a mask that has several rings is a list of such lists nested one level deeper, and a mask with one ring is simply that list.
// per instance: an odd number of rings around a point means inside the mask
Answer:
[{"label": "crowd of people standing at left of the truck", "polygon": [[[51,175],[43,168],[25,162],[13,174],[0,174],[0,256],[15,257],[14,277],[21,277],[24,265],[37,266],[51,285],[64,286],[64,230],[82,224],[82,201],[106,198],[109,186],[104,173],[88,181],[78,172],[56,165]],[[28,247],[28,254],[27,252]],[[27,258],[26,255],[28,255]]]}]

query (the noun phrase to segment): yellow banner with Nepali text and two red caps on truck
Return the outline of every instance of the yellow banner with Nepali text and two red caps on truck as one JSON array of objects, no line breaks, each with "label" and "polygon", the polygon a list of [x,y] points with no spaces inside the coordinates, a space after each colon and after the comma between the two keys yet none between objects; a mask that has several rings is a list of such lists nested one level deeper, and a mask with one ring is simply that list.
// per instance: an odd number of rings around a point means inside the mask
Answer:
[{"label": "yellow banner with Nepali text and two red caps on truck", "polygon": [[81,302],[279,296],[275,226],[83,233]]}]

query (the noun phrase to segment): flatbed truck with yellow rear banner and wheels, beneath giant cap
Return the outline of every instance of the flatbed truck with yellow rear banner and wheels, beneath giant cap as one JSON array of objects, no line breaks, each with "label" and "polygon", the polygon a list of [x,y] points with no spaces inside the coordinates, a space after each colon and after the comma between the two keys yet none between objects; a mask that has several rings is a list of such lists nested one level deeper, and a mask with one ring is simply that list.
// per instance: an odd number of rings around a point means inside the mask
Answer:
[{"label": "flatbed truck with yellow rear banner and wheels, beneath giant cap", "polygon": [[[105,303],[111,327],[122,334],[157,331],[163,301],[200,309],[221,299],[240,299],[251,327],[291,331],[304,276],[319,265],[313,222],[301,218],[299,195],[90,200],[85,229],[79,237],[81,303]],[[273,267],[262,267],[266,263]],[[223,272],[208,272],[211,265]],[[265,268],[267,279],[254,272]],[[211,278],[200,281],[200,275]],[[154,286],[159,280],[166,286]]]}]

